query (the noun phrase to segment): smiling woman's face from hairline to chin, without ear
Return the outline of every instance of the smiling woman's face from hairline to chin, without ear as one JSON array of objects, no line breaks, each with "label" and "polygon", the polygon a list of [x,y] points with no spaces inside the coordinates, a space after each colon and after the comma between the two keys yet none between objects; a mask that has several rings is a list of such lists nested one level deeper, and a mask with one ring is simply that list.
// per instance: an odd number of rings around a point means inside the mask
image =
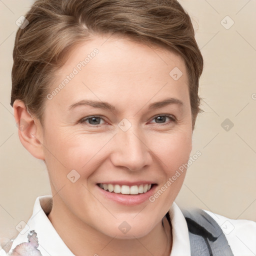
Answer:
[{"label": "smiling woman's face from hairline to chin, without ear", "polygon": [[96,36],[58,71],[43,124],[53,207],[81,228],[146,235],[180,190],[185,171],[172,176],[191,151],[185,64],[163,49]]}]

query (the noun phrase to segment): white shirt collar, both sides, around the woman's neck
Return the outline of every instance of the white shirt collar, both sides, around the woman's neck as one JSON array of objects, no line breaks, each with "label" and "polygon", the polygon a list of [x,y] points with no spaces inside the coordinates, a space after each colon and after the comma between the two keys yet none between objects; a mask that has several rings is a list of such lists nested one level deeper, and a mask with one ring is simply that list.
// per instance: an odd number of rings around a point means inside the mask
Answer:
[{"label": "white shirt collar, both sides, around the woman's neck", "polygon": [[[74,256],[47,217],[51,210],[51,203],[51,195],[38,196],[36,198],[32,216],[27,221],[27,226],[14,239],[10,251],[16,245],[27,242],[27,234],[30,230],[34,230],[37,233],[39,243],[37,249],[41,252],[42,256]],[[170,256],[191,256],[188,228],[181,210],[173,202],[168,212],[172,228]]]}]

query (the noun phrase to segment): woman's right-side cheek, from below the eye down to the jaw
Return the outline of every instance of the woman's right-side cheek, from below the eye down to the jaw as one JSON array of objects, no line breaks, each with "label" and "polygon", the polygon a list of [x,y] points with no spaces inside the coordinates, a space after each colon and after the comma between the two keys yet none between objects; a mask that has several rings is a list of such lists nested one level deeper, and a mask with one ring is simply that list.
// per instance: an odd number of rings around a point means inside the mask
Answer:
[{"label": "woman's right-side cheek, from below the eye down to the jaw", "polygon": [[154,153],[158,157],[158,167],[162,170],[159,171],[161,183],[149,197],[149,201],[152,209],[158,209],[157,214],[160,218],[168,211],[183,184],[185,163],[191,151],[191,135],[186,130],[180,130],[171,134],[158,134],[155,141],[159,142],[154,146]]}]

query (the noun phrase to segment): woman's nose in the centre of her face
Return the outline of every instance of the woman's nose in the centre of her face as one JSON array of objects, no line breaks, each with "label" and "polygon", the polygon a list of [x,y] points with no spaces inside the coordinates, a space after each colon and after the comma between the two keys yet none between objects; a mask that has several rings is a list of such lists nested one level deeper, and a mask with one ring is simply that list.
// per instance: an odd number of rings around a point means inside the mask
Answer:
[{"label": "woman's nose in the centre of her face", "polygon": [[152,161],[148,139],[131,126],[127,131],[118,130],[112,141],[111,162],[116,167],[125,167],[131,171],[141,170]]}]

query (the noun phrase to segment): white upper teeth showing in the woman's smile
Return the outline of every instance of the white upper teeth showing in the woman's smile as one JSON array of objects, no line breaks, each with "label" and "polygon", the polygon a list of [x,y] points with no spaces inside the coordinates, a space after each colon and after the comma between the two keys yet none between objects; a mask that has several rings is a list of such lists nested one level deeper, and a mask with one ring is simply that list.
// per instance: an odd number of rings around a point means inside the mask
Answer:
[{"label": "white upper teeth showing in the woman's smile", "polygon": [[145,193],[151,188],[151,184],[141,184],[141,185],[118,185],[118,184],[102,184],[99,186],[104,190],[108,190],[109,192],[121,193],[121,194],[138,194]]}]

